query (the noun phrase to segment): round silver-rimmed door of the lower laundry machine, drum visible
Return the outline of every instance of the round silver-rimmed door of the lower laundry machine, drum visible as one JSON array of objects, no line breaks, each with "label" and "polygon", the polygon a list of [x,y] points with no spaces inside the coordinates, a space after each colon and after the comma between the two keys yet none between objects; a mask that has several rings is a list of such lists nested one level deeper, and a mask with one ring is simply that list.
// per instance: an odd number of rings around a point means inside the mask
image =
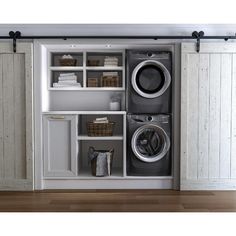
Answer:
[{"label": "round silver-rimmed door of the lower laundry machine, drum visible", "polygon": [[148,124],[139,127],[133,134],[131,147],[135,156],[143,162],[161,160],[170,149],[170,139],[159,126]]}]

